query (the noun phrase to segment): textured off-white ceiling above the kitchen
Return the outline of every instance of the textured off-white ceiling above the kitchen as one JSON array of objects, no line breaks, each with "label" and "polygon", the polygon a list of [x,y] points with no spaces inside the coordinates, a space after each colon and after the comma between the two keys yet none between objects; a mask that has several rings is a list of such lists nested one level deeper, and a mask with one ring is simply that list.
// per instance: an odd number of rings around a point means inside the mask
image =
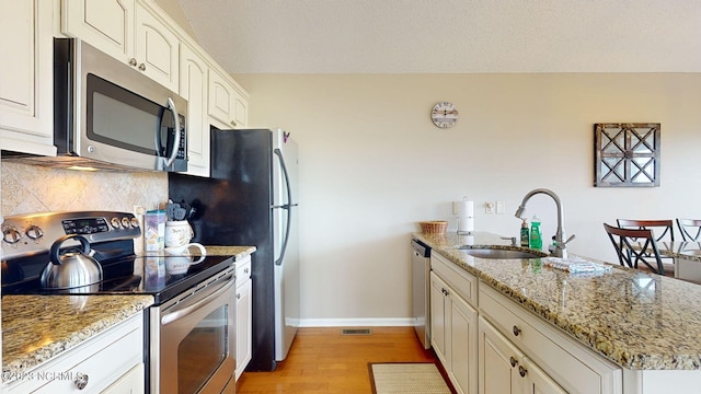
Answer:
[{"label": "textured off-white ceiling above the kitchen", "polygon": [[698,0],[177,0],[231,73],[701,72]]}]

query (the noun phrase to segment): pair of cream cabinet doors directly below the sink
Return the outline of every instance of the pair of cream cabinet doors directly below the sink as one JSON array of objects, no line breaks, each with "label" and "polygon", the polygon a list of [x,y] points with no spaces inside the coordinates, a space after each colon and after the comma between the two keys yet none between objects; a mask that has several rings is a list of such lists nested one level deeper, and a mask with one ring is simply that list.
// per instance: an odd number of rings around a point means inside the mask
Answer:
[{"label": "pair of cream cabinet doors directly below the sink", "polygon": [[476,393],[478,311],[430,273],[432,345],[458,393]]}]

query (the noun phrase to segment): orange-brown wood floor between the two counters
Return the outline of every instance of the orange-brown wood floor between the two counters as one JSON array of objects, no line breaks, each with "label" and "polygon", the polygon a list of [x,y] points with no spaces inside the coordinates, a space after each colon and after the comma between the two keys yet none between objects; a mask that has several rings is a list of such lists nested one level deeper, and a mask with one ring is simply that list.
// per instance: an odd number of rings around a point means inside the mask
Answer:
[{"label": "orange-brown wood floor between the two counters", "polygon": [[371,393],[368,362],[434,362],[412,327],[371,327],[370,335],[341,328],[300,328],[287,359],[273,372],[243,372],[237,394]]}]

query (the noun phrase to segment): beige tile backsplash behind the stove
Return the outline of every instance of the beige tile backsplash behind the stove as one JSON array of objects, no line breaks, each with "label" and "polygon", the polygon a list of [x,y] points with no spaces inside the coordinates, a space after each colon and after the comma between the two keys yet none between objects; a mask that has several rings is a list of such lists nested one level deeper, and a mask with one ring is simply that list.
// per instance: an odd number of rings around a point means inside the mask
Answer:
[{"label": "beige tile backsplash behind the stove", "polygon": [[168,174],[80,172],[1,162],[2,216],[42,211],[156,209],[168,200]]}]

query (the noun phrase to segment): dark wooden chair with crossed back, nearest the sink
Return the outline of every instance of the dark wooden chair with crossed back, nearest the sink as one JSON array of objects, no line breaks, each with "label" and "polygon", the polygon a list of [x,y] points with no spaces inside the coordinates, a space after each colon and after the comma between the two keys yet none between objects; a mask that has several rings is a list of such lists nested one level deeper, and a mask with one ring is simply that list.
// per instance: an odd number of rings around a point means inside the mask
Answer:
[{"label": "dark wooden chair with crossed back, nearest the sink", "polygon": [[655,274],[665,275],[657,242],[650,229],[622,229],[604,223],[622,266],[637,269],[644,264]]}]

